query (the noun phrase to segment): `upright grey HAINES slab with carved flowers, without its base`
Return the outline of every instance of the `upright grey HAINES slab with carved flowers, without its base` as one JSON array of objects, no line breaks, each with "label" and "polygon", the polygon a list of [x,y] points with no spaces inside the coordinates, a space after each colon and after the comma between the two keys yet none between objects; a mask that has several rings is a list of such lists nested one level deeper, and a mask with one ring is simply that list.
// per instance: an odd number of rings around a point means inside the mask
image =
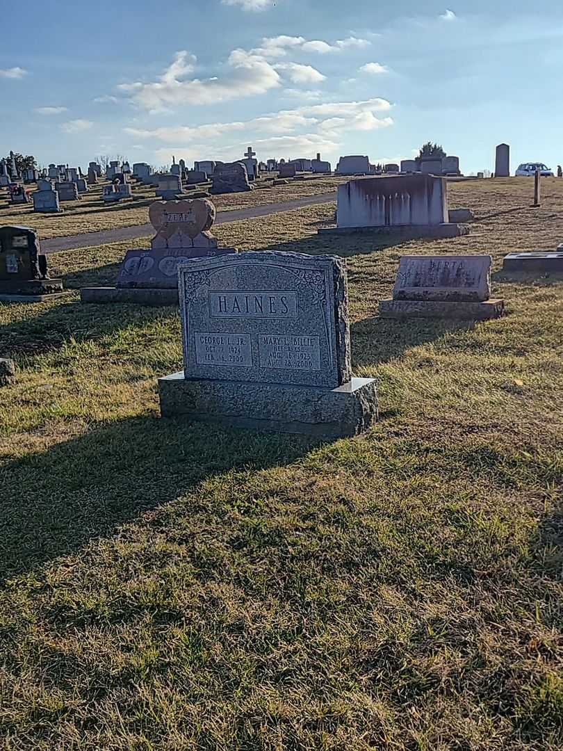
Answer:
[{"label": "upright grey HAINES slab with carved flowers, without its base", "polygon": [[324,388],[351,379],[344,259],[246,252],[178,269],[186,378]]}]

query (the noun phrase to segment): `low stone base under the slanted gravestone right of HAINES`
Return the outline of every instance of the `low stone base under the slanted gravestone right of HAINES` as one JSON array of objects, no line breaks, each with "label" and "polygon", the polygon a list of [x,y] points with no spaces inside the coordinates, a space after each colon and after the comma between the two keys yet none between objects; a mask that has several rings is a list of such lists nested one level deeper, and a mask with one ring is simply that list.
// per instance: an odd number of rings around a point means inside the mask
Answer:
[{"label": "low stone base under the slanted gravestone right of HAINES", "polygon": [[437,300],[380,300],[380,318],[460,318],[486,321],[504,314],[504,300],[483,303],[445,303]]}]

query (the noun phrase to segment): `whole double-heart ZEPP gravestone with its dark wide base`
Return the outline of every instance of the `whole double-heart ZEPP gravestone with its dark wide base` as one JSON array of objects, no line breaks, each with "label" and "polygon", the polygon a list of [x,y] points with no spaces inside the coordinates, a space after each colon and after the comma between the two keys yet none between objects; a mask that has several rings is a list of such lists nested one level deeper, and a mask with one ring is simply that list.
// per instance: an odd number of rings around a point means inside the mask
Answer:
[{"label": "whole double-heart ZEPP gravestone with its dark wide base", "polygon": [[115,287],[85,287],[83,303],[178,304],[178,264],[192,258],[234,254],[221,248],[211,232],[215,206],[202,198],[155,201],[149,219],[156,235],[150,249],[129,250]]}]

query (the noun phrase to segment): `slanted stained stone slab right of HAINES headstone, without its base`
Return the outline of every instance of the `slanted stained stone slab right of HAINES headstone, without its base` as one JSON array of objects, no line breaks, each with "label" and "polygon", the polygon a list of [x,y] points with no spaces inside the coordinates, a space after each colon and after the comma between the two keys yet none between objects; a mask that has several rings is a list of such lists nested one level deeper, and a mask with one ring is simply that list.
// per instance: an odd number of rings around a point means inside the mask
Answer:
[{"label": "slanted stained stone slab right of HAINES headstone, without its base", "polygon": [[479,303],[491,295],[490,255],[402,255],[393,300]]}]

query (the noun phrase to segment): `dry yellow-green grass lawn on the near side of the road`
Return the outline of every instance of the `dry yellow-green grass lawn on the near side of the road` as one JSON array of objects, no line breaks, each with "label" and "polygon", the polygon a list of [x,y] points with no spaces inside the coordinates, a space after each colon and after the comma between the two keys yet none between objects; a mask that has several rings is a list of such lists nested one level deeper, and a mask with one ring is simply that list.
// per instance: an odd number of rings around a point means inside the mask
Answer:
[{"label": "dry yellow-green grass lawn on the near side of the road", "polygon": [[[176,309],[0,305],[2,751],[563,747],[563,277],[500,271],[563,241],[532,183],[451,186],[455,240],[319,238],[330,205],[216,229],[348,258],[360,439],[161,420]],[[124,251],[51,263],[112,283]],[[378,319],[414,252],[490,253],[506,317]]]}]

